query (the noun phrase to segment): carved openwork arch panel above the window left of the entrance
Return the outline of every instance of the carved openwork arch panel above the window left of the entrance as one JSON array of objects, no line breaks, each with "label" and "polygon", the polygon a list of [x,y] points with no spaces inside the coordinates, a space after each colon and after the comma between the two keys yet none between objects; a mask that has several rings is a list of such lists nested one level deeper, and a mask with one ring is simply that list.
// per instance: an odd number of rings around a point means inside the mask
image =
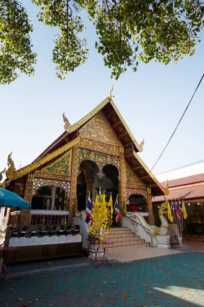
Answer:
[{"label": "carved openwork arch panel above the window left of the entrance", "polygon": [[57,181],[57,180],[48,180],[42,178],[35,178],[33,182],[32,195],[36,193],[36,190],[43,186],[55,187],[63,189],[69,198],[70,195],[70,182],[68,181]]}]

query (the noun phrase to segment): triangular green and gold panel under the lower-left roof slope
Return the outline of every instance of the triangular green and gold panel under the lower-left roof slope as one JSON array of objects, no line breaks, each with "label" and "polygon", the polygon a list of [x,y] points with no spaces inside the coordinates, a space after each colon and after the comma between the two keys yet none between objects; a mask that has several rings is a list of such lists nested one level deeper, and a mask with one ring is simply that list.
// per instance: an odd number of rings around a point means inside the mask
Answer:
[{"label": "triangular green and gold panel under the lower-left roof slope", "polygon": [[70,176],[71,174],[71,165],[70,165],[70,150],[65,153],[65,155],[59,158],[57,161],[43,167],[41,171],[47,173],[55,173],[55,174],[67,174]]}]

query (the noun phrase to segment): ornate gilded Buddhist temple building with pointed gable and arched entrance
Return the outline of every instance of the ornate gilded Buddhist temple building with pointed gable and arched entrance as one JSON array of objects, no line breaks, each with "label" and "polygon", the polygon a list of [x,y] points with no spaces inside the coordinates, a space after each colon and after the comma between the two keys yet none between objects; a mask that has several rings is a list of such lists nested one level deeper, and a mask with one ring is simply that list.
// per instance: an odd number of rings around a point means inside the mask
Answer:
[{"label": "ornate gilded Buddhist temple building with pointed gable and arched entrance", "polygon": [[152,196],[162,199],[165,188],[139,157],[144,140],[135,140],[111,92],[77,123],[70,125],[65,114],[63,120],[62,135],[30,165],[16,169],[8,156],[2,186],[31,204],[19,227],[56,226],[64,219],[71,225],[75,211],[86,209],[89,192],[94,201],[100,187],[107,201],[111,192],[113,202],[118,194],[122,213],[137,209],[155,225]]}]

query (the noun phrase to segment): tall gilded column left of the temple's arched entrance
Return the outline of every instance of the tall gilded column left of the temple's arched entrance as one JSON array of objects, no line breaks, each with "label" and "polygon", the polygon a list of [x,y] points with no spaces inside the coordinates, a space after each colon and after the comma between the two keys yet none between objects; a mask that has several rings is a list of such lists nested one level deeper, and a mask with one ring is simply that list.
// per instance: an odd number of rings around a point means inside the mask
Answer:
[{"label": "tall gilded column left of the temple's arched entrance", "polygon": [[78,176],[78,145],[72,147],[72,163],[71,163],[71,188],[70,188],[70,202],[68,224],[72,223],[73,207],[77,196],[77,176]]}]

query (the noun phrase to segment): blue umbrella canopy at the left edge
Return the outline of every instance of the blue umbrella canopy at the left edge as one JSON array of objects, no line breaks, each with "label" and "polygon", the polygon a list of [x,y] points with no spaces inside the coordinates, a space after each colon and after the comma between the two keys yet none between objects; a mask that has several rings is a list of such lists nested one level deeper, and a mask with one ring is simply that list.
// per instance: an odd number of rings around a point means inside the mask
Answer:
[{"label": "blue umbrella canopy at the left edge", "polygon": [[0,188],[0,206],[30,209],[30,204],[25,202],[19,195],[2,188]]}]

